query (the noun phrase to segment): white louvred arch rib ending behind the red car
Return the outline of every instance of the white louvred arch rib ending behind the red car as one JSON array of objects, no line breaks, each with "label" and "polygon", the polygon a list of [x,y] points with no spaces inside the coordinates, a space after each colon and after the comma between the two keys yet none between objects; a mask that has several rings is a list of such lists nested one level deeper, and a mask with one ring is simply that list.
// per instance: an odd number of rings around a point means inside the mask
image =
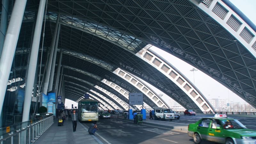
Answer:
[{"label": "white louvred arch rib ending behind the red car", "polygon": [[176,71],[172,65],[167,64],[147,49],[140,50],[140,52],[136,53],[136,56],[159,70],[174,84],[179,86],[179,88],[185,92],[202,111],[213,111],[211,106],[207,103],[207,100],[200,94],[200,92],[198,92],[196,88],[188,82],[187,78]]}]

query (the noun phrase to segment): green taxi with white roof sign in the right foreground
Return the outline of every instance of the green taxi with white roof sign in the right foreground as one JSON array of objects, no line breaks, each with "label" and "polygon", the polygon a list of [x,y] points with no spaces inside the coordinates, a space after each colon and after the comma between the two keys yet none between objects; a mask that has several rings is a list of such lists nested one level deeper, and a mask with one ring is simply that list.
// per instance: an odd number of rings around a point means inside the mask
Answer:
[{"label": "green taxi with white roof sign in the right foreground", "polygon": [[202,140],[223,144],[254,144],[256,131],[247,129],[237,119],[228,118],[225,114],[215,114],[214,117],[202,118],[195,124],[189,124],[188,136],[196,144]]}]

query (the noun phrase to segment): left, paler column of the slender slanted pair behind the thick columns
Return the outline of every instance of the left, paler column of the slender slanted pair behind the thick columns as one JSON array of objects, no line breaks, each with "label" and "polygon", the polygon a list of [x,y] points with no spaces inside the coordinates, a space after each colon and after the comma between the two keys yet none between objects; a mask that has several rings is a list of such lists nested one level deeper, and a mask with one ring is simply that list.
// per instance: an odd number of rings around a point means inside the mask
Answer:
[{"label": "left, paler column of the slender slanted pair behind the thick columns", "polygon": [[58,29],[58,25],[59,25],[59,19],[60,19],[60,14],[58,15],[57,20],[56,20],[56,26],[55,26],[53,37],[52,37],[51,51],[50,51],[50,55],[48,57],[46,74],[45,74],[45,79],[44,79],[44,88],[43,88],[44,94],[47,94],[47,90],[48,90],[50,72],[51,72],[51,67],[52,67],[52,57],[53,57],[54,46],[55,46],[55,41],[56,41],[57,29]]}]

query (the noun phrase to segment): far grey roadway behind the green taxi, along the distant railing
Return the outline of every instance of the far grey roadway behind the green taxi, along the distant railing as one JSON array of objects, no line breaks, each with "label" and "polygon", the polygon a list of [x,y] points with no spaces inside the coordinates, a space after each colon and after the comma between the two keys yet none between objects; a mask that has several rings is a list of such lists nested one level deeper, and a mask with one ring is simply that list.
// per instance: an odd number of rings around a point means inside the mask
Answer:
[{"label": "far grey roadway behind the green taxi, along the distant railing", "polygon": [[[196,115],[196,116],[180,115],[180,119],[174,119],[172,121],[166,121],[166,122],[192,124],[192,123],[196,123],[198,120],[200,120],[201,118],[204,118],[204,117],[213,117],[213,116],[212,115]],[[149,119],[149,113],[147,113],[146,118]],[[242,124],[244,124],[248,129],[256,130],[256,123],[255,123],[256,116],[255,117],[233,117],[233,116],[229,116],[229,118],[237,119]]]}]

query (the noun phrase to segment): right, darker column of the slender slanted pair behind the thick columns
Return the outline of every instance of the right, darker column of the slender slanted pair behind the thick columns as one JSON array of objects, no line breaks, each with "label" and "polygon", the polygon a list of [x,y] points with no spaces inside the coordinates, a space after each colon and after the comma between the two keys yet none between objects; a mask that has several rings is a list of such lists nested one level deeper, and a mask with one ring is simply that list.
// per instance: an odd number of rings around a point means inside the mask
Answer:
[{"label": "right, darker column of the slender slanted pair behind the thick columns", "polygon": [[58,43],[59,43],[59,36],[60,36],[60,24],[58,26],[57,37],[56,37],[56,42],[55,42],[55,46],[54,46],[48,92],[52,91],[52,84],[53,84],[53,77],[54,77],[54,71],[55,71],[55,63],[56,63],[57,49],[58,49]]}]

